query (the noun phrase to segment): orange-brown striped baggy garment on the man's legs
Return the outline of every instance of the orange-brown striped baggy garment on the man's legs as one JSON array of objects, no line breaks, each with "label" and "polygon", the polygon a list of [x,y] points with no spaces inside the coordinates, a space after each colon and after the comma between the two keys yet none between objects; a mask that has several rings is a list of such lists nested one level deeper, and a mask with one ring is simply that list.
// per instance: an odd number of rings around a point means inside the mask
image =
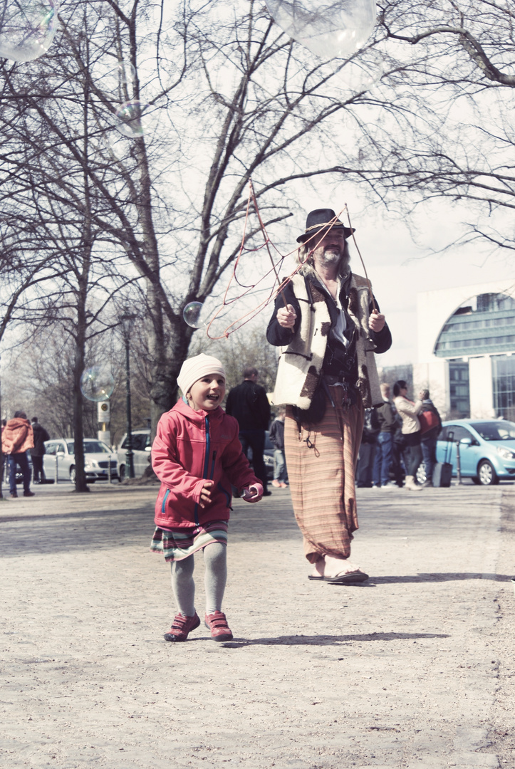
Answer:
[{"label": "orange-brown striped baggy garment on the man's legs", "polygon": [[[323,555],[349,558],[358,528],[354,472],[363,433],[363,406],[341,404],[341,388],[329,388],[322,421],[299,428],[286,407],[284,444],[293,511],[314,564]],[[308,429],[308,427],[310,429]]]}]

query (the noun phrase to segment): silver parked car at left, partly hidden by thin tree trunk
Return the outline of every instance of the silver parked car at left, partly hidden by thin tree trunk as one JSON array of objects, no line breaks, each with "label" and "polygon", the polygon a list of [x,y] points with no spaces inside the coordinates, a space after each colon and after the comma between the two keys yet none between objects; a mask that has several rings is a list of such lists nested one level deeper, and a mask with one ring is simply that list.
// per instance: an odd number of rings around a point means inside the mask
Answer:
[{"label": "silver parked car at left, partly hidden by thin tree trunk", "polygon": [[[55,478],[57,464],[57,480],[75,483],[75,443],[71,438],[55,438],[45,441],[46,454],[43,457],[43,469],[47,478]],[[118,459],[112,448],[104,441],[95,438],[84,438],[84,469],[86,481],[109,480],[109,463],[111,463],[111,478],[118,478]]]}]

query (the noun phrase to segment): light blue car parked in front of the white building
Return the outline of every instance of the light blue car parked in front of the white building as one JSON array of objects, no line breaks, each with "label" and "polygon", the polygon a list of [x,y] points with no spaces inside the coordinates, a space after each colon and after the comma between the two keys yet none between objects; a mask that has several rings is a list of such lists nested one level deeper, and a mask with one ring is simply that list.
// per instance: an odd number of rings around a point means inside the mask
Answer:
[{"label": "light blue car parked in front of the white building", "polygon": [[451,462],[453,476],[456,476],[456,443],[460,448],[462,478],[472,478],[482,486],[515,480],[515,423],[504,419],[443,422],[436,459]]}]

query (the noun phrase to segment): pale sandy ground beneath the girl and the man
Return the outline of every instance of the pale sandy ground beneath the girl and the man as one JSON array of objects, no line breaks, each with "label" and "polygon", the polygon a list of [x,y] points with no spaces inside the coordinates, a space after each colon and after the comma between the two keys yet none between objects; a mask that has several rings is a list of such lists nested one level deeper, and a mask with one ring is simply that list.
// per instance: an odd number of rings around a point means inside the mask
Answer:
[{"label": "pale sandy ground beneath the girl and the man", "polygon": [[358,492],[353,587],[288,490],[235,502],[226,644],[162,638],[156,487],[0,502],[2,769],[513,767],[515,486]]}]

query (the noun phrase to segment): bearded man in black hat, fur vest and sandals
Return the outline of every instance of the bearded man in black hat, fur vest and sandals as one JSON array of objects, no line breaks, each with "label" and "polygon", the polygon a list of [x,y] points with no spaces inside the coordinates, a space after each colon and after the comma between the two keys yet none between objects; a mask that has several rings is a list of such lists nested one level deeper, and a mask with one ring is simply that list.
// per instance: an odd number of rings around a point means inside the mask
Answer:
[{"label": "bearded man in black hat, fur vest and sandals", "polygon": [[308,214],[297,238],[302,267],[283,285],[266,331],[283,348],[273,402],[286,404],[286,464],[309,579],[336,584],[368,579],[349,562],[354,473],[363,410],[383,403],[374,353],[392,344],[370,282],[349,268],[350,235],[332,209]]}]

